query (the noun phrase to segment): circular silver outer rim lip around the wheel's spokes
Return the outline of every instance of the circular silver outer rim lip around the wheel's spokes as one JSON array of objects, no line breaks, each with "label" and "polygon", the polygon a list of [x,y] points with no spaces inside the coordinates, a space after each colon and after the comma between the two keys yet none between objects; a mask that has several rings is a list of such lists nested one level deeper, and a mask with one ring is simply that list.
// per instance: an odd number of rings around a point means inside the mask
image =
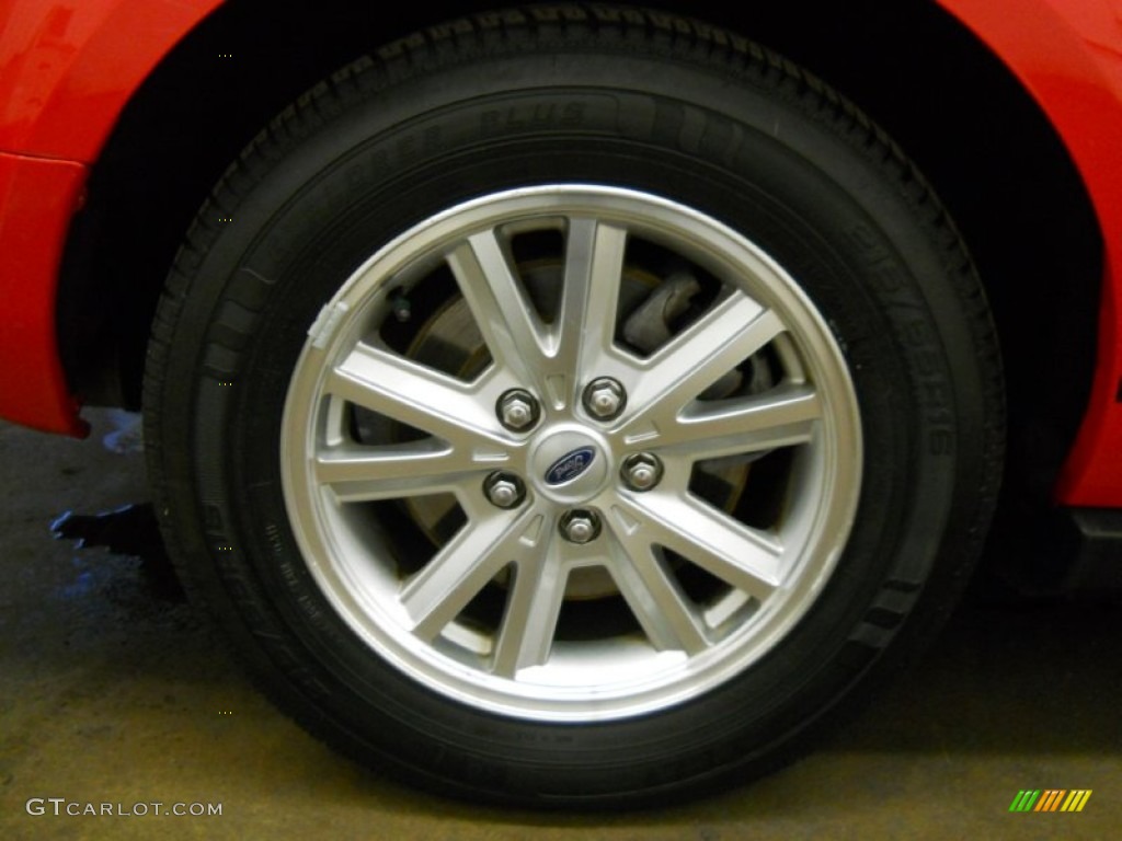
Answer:
[{"label": "circular silver outer rim lip around the wheel's spokes", "polygon": [[[369,577],[352,560],[361,554],[356,549],[364,547],[356,545],[353,534],[340,530],[338,511],[316,487],[310,463],[320,446],[316,416],[325,399],[325,377],[353,346],[365,305],[386,278],[480,225],[495,229],[515,220],[577,215],[656,231],[680,240],[691,255],[732,260],[749,275],[748,292],[781,313],[803,362],[822,388],[821,428],[815,443],[806,446],[816,463],[810,472],[825,490],[811,506],[813,510],[802,515],[803,547],[793,560],[797,569],[781,586],[785,594],[765,600],[756,619],[695,655],[646,653],[631,663],[626,655],[619,659],[619,651],[597,651],[597,656],[605,655],[604,665],[594,669],[600,681],[559,684],[544,672],[531,674],[533,669],[519,672],[514,680],[496,677],[413,636],[405,628],[401,606],[390,598],[389,584],[383,582],[378,592],[370,592]],[[863,442],[854,386],[830,329],[795,280],[760,247],[721,222],[671,200],[619,187],[564,184],[499,191],[452,206],[378,249],[323,312],[338,311],[340,304],[348,308],[334,324],[310,333],[289,383],[280,440],[285,505],[305,563],[335,612],[369,648],[427,688],[488,713],[546,722],[608,721],[665,710],[725,684],[764,657],[807,613],[834,572],[853,526],[861,488]],[[579,410],[578,398],[572,412]],[[599,429],[611,424],[594,418],[589,426]],[[540,424],[540,428],[549,427]],[[541,437],[497,434],[504,435],[515,460],[522,460],[523,472],[528,471],[530,454]],[[601,456],[618,463],[622,454],[605,445],[603,452],[597,451],[597,458]],[[541,479],[532,474],[528,483],[534,489],[544,487]],[[618,492],[614,481],[582,498],[580,507],[610,506],[611,495]],[[517,517],[518,510],[499,512],[507,515]],[[577,666],[588,655],[563,646],[557,651],[559,664],[572,659]],[[620,668],[627,665],[635,668]],[[567,673],[572,671],[570,666]],[[623,676],[603,680],[606,675]]]}]

